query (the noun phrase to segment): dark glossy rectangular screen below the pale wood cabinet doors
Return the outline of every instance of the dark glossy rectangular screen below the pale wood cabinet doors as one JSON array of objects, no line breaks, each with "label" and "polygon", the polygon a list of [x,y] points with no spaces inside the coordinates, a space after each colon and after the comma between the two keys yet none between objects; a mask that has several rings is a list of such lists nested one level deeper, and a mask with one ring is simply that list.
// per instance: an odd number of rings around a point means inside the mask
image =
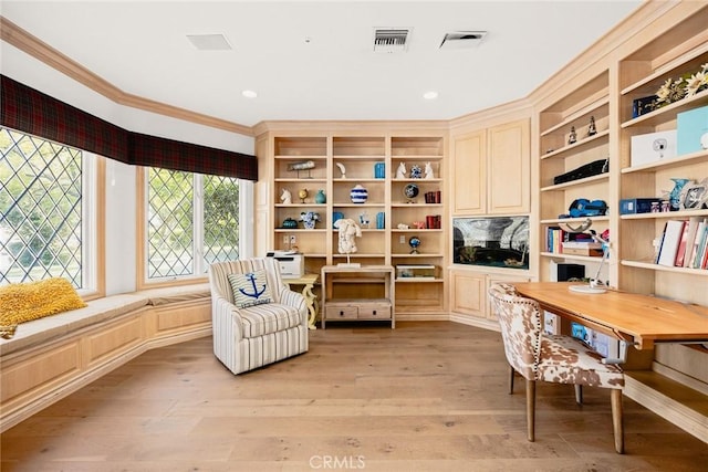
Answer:
[{"label": "dark glossy rectangular screen below the pale wood cabinet doors", "polygon": [[529,269],[529,217],[452,219],[456,264]]}]

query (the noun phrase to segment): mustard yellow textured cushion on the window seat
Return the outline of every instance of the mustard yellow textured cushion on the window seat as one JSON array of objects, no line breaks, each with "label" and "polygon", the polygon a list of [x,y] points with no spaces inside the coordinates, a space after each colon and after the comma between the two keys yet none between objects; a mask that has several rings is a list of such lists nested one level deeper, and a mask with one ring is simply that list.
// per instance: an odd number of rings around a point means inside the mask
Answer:
[{"label": "mustard yellow textured cushion on the window seat", "polygon": [[0,336],[10,338],[20,323],[86,306],[66,279],[0,286]]}]

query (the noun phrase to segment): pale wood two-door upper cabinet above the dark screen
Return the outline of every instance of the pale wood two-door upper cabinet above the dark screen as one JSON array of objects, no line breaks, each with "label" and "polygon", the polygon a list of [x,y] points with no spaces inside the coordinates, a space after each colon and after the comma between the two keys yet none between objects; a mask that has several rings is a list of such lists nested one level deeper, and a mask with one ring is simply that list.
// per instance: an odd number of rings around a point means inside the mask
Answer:
[{"label": "pale wood two-door upper cabinet above the dark screen", "polygon": [[454,214],[520,214],[530,211],[528,119],[454,135]]}]

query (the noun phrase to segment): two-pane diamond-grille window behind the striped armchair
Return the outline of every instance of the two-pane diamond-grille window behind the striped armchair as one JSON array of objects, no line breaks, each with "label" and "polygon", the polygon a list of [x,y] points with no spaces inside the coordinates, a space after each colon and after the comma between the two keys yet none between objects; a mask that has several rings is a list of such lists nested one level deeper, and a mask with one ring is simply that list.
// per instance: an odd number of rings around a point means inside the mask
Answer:
[{"label": "two-pane diamond-grille window behind the striped armchair", "polygon": [[147,277],[202,275],[238,259],[238,179],[147,169]]}]

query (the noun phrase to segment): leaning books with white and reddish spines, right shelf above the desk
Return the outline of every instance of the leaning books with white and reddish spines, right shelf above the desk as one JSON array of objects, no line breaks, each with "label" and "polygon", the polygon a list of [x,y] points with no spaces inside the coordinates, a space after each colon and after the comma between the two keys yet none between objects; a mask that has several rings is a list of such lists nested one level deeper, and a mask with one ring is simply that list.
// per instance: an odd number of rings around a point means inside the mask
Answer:
[{"label": "leaning books with white and reddish spines, right shelf above the desk", "polygon": [[667,266],[708,269],[708,218],[668,220],[655,262]]}]

